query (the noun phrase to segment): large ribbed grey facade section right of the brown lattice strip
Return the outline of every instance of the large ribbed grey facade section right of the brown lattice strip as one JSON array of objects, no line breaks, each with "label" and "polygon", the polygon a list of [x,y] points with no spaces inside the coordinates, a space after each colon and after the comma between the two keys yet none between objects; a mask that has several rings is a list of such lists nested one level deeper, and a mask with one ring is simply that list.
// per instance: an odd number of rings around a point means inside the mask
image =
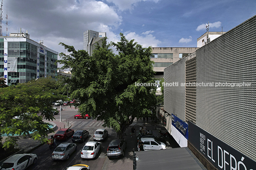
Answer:
[{"label": "large ribbed grey facade section right of the brown lattice strip", "polygon": [[256,16],[196,51],[196,81],[214,84],[196,88],[196,125],[256,160]]}]

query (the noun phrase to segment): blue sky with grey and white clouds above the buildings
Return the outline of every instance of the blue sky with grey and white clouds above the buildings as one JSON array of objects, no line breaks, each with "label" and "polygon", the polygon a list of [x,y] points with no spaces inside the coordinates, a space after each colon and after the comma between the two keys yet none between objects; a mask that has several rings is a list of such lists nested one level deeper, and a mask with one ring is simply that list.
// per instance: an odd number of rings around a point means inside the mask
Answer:
[{"label": "blue sky with grey and white clouds above the buildings", "polygon": [[256,0],[3,0],[2,33],[22,30],[34,41],[64,52],[59,42],[83,49],[86,30],[122,32],[143,47],[196,47],[205,24],[228,31],[256,15]]}]

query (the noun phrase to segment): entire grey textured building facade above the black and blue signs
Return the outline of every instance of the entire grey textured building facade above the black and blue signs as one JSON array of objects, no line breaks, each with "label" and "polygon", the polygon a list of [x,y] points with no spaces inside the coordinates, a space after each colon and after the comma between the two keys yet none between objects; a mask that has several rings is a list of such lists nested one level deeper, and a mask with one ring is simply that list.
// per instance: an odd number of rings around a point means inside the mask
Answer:
[{"label": "entire grey textured building facade above the black and blue signs", "polygon": [[164,80],[186,83],[164,87],[167,113],[256,161],[256,16],[167,67]]}]

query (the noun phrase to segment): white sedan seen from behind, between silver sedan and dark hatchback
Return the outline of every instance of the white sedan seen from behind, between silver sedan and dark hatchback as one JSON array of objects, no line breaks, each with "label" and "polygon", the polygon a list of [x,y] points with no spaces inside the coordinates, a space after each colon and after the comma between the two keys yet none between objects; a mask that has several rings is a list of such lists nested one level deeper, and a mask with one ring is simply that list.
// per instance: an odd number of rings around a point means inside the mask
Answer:
[{"label": "white sedan seen from behind, between silver sedan and dark hatchback", "polygon": [[81,158],[93,159],[97,156],[100,149],[101,149],[100,142],[89,141],[85,143],[85,146],[81,151]]}]

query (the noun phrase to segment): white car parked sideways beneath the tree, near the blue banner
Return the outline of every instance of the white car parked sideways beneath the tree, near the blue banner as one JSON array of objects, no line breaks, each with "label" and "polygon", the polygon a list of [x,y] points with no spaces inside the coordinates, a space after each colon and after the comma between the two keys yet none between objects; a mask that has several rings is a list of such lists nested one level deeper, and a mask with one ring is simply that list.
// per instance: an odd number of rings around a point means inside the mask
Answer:
[{"label": "white car parked sideways beneath the tree, near the blue banner", "polygon": [[[154,138],[140,138],[139,142],[143,142],[144,150],[165,150],[166,145],[163,142],[155,140]],[[139,143],[137,145],[139,150]]]}]

